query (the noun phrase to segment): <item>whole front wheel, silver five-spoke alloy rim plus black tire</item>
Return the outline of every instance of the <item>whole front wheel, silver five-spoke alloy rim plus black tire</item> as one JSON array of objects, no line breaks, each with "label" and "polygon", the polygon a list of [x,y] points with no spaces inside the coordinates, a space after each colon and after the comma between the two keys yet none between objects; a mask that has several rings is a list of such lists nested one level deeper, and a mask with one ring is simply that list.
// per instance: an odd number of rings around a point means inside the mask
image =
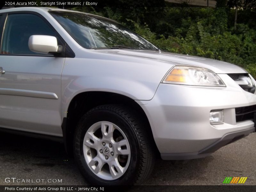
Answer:
[{"label": "whole front wheel, silver five-spoke alloy rim plus black tire", "polygon": [[90,183],[139,184],[152,172],[155,158],[147,132],[150,130],[135,114],[124,106],[102,105],[79,121],[74,153]]}]

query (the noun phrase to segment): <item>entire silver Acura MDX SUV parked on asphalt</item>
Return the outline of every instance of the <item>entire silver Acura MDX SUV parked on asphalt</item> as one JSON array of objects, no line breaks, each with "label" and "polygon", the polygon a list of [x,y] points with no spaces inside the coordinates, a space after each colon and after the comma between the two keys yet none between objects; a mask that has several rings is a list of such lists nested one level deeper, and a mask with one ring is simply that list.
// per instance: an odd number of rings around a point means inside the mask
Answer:
[{"label": "entire silver Acura MDX SUV parked on asphalt", "polygon": [[0,11],[0,127],[63,141],[93,184],[139,184],[254,131],[255,80],[162,52],[119,23],[52,8]]}]

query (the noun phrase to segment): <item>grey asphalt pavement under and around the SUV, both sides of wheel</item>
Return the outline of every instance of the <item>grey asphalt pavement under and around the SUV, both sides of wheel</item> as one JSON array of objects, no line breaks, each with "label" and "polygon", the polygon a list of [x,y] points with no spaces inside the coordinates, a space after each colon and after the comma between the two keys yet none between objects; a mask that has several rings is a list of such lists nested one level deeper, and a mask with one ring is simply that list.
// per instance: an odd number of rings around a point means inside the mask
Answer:
[{"label": "grey asphalt pavement under and around the SUV, both sides of wheel", "polygon": [[[256,185],[255,132],[202,159],[178,162],[157,159],[144,185],[223,185],[223,180],[230,176],[248,177],[244,185]],[[74,159],[66,155],[63,144],[0,133],[0,185],[87,185],[87,182]]]}]

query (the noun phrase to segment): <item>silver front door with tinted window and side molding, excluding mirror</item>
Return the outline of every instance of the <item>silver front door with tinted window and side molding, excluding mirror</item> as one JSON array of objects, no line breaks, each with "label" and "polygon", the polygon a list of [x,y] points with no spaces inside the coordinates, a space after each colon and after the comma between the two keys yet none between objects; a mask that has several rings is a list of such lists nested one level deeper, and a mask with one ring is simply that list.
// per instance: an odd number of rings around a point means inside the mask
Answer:
[{"label": "silver front door with tinted window and side molding, excluding mirror", "polygon": [[10,12],[4,18],[0,127],[62,136],[60,77],[65,58],[31,52],[31,35],[56,36],[58,44],[64,44],[47,20],[35,12]]}]

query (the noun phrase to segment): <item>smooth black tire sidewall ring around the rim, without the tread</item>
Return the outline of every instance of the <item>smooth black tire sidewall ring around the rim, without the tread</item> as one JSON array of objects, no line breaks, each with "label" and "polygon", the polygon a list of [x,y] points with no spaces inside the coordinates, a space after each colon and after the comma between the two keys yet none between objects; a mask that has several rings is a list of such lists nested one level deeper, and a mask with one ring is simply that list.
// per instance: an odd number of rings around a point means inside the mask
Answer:
[{"label": "smooth black tire sidewall ring around the rim, without the tread", "polygon": [[[93,124],[100,121],[107,121],[116,124],[124,132],[130,145],[131,155],[129,166],[124,175],[116,180],[103,180],[96,176],[91,171],[84,158],[83,143],[85,133]],[[140,162],[140,143],[132,123],[129,122],[129,120],[124,116],[106,109],[90,111],[80,120],[74,140],[74,153],[76,161],[80,171],[90,183],[96,185],[127,185],[134,182]]]}]

